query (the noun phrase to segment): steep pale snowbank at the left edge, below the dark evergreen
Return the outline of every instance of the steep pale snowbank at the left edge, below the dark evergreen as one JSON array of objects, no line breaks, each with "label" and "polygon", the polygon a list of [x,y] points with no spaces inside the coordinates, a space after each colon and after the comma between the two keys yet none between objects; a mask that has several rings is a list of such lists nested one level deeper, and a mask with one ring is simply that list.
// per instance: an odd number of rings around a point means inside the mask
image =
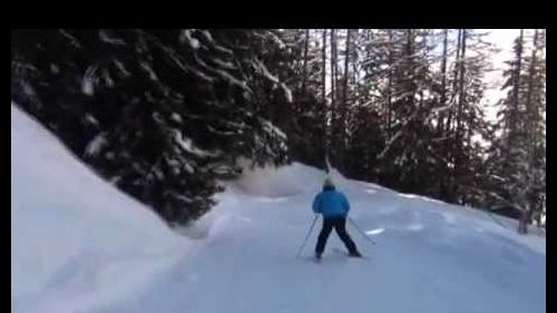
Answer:
[{"label": "steep pale snowbank at the left edge, below the dark evergreen", "polygon": [[184,243],[12,104],[12,312],[87,312],[130,296]]}]

